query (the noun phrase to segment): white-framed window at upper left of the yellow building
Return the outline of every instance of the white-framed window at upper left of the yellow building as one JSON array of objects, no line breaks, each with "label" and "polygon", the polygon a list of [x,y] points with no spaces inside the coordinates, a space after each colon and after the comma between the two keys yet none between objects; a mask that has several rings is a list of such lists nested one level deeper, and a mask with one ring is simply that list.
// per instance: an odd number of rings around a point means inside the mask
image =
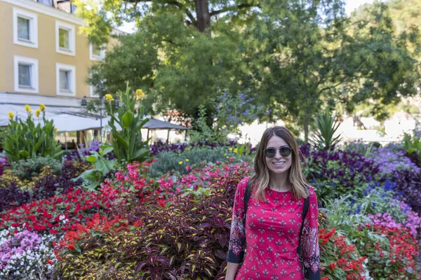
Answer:
[{"label": "white-framed window at upper left of the yellow building", "polygon": [[38,16],[13,8],[13,43],[38,48]]}]

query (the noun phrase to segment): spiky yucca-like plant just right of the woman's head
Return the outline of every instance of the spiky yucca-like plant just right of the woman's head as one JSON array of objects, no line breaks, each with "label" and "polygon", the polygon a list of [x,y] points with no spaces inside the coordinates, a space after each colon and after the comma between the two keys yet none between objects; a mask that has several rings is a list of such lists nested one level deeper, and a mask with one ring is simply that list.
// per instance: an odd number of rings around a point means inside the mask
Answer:
[{"label": "spiky yucca-like plant just right of the woman's head", "polygon": [[314,122],[317,130],[314,131],[312,142],[322,150],[334,148],[341,140],[341,135],[335,136],[340,125],[338,118],[326,109],[324,113],[317,113]]}]

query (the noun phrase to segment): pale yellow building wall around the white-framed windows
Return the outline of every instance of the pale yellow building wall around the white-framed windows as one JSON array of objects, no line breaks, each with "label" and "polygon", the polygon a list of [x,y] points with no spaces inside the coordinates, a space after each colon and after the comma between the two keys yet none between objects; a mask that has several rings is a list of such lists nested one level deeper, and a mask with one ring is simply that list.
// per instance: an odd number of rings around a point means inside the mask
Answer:
[{"label": "pale yellow building wall around the white-framed windows", "polygon": [[[38,48],[29,48],[13,43],[13,7],[28,10],[38,16]],[[25,8],[23,8],[25,7]],[[75,27],[76,55],[63,55],[55,48],[55,21],[65,22]],[[88,68],[95,63],[90,59],[88,38],[81,34],[83,21],[75,15],[30,0],[0,0],[0,92],[15,92],[13,57],[15,55],[38,59],[39,93],[57,96],[56,63],[76,67],[76,97],[90,96],[86,83]],[[116,43],[112,40],[110,45]],[[15,92],[19,93],[19,92]],[[29,95],[32,95],[29,93]],[[62,97],[60,95],[60,97]]]}]

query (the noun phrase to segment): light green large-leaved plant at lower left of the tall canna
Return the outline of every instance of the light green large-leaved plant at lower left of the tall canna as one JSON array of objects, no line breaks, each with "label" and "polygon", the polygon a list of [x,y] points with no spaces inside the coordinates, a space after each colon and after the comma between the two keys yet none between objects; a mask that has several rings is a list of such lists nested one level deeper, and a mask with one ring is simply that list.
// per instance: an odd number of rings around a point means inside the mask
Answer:
[{"label": "light green large-leaved plant at lower left of the tall canna", "polygon": [[114,172],[115,169],[115,160],[107,160],[105,155],[111,153],[113,147],[107,144],[100,145],[100,152],[91,151],[92,155],[89,155],[86,160],[91,162],[93,169],[88,169],[86,172],[83,172],[79,177],[74,179],[81,178],[83,179],[83,186],[86,186],[88,190],[95,190],[100,183],[102,183],[105,176]]}]

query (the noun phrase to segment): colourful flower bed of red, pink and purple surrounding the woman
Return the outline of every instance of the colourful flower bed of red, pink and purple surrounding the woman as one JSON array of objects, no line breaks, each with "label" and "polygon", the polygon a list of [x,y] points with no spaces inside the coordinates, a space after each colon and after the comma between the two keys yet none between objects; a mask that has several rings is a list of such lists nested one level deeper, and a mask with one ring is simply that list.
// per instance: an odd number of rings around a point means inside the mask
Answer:
[{"label": "colourful flower bed of red, pink and purple surrounding the woman", "polygon": [[[308,146],[302,152],[307,178],[325,200],[326,216],[319,215],[323,280],[419,279],[417,174],[405,168],[389,174],[382,167],[389,161],[353,152]],[[0,275],[32,279],[38,269],[45,279],[224,279],[236,183],[252,172],[250,162],[237,161],[185,161],[185,174],[156,178],[149,173],[153,161],[135,162],[96,192],[72,188],[77,172],[46,172],[31,190],[22,190],[25,183],[8,171],[0,192],[15,198],[0,214]],[[20,252],[27,252],[25,266],[13,270]],[[39,252],[45,258],[31,262]]]}]

